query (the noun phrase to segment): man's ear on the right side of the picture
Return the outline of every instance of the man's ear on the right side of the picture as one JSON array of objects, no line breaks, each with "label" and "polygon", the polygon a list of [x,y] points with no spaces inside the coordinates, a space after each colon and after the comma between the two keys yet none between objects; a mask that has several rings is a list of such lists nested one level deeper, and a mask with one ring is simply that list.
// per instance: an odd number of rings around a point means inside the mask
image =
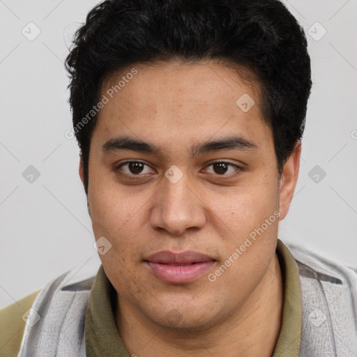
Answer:
[{"label": "man's ear on the right side of the picture", "polygon": [[296,142],[294,150],[284,164],[280,177],[279,208],[280,218],[283,220],[287,215],[294,197],[296,182],[298,181],[298,170],[300,168],[301,142]]}]

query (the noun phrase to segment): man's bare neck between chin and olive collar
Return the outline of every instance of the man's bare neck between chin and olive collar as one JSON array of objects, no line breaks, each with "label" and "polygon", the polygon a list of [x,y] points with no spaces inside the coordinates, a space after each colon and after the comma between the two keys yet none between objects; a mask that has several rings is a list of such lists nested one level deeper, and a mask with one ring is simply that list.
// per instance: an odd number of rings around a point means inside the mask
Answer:
[{"label": "man's bare neck between chin and olive collar", "polygon": [[199,331],[167,331],[143,323],[126,301],[116,302],[115,319],[130,356],[271,357],[280,333],[283,303],[282,273],[274,255],[252,296],[220,324]]}]

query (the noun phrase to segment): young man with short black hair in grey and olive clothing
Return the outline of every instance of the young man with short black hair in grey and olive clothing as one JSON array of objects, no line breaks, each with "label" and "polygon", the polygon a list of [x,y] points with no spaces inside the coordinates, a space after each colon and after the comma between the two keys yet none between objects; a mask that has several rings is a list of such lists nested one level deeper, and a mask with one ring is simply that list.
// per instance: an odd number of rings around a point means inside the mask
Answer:
[{"label": "young man with short black hair in grey and olive clothing", "polygon": [[278,239],[312,84],[287,8],[105,1],[66,66],[102,265],[3,310],[3,356],[356,356],[356,271]]}]

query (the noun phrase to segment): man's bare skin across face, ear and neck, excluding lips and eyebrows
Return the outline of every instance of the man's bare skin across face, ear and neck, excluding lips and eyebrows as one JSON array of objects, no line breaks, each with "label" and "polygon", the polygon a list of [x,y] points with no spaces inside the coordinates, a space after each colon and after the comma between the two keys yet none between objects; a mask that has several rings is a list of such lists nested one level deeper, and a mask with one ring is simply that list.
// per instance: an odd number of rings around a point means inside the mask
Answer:
[{"label": "man's bare skin across face, ear and neck, excluding lips and eyebrows", "polygon": [[[278,219],[214,282],[208,273],[273,212],[280,212],[279,220],[287,215],[301,144],[279,179],[273,136],[253,82],[213,61],[135,68],[137,75],[100,110],[89,159],[93,231],[96,239],[105,236],[112,244],[100,259],[116,289],[115,320],[123,342],[139,357],[271,356],[283,305],[275,254]],[[109,77],[102,93],[129,70]],[[236,105],[243,93],[255,100],[248,112]],[[103,151],[105,142],[121,135],[162,151]],[[192,144],[229,135],[249,139],[257,149],[222,149],[193,158],[188,151]],[[128,165],[118,168],[128,160],[146,166],[139,174]],[[225,172],[210,165],[216,160],[233,165]],[[176,183],[165,177],[172,165],[183,174]],[[83,181],[82,162],[79,174]],[[194,282],[170,284],[143,262],[161,250],[195,250],[216,261]]]}]

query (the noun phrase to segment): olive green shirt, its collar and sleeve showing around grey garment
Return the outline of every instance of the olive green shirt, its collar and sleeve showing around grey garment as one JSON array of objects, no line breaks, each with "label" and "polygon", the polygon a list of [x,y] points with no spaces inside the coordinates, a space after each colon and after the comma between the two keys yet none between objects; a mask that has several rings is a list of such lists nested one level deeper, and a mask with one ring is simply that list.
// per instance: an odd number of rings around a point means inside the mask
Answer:
[{"label": "olive green shirt, its collar and sleeve showing around grey garment", "polygon": [[[299,357],[301,344],[301,290],[298,267],[288,248],[278,240],[277,255],[284,283],[282,327],[273,357]],[[0,356],[15,357],[20,351],[25,323],[22,315],[38,291],[0,310]],[[116,291],[102,265],[96,275],[86,310],[86,356],[130,357],[116,328],[114,304]],[[139,352],[138,352],[139,353]]]}]

